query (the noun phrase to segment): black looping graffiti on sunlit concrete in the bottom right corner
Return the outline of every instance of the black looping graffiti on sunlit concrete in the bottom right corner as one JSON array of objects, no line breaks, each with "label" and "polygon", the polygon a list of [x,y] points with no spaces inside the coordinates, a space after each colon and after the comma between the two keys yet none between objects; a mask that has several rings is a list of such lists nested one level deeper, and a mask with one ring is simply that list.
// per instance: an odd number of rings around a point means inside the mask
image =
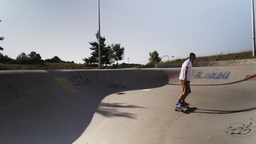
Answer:
[{"label": "black looping graffiti on sunlit concrete in the bottom right corner", "polygon": [[243,124],[243,123],[232,123],[230,127],[224,131],[227,136],[235,137],[248,137],[256,132],[256,127],[253,123]]}]

